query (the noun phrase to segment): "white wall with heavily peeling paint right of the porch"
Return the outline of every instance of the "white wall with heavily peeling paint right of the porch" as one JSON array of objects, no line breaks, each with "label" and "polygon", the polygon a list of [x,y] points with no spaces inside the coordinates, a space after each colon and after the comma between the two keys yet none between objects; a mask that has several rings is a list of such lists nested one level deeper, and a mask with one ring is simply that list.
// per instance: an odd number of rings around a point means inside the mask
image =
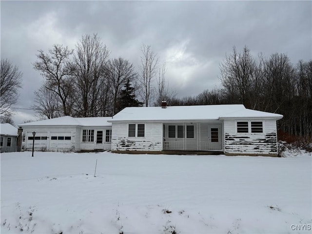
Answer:
[{"label": "white wall with heavily peeling paint right of the porch", "polygon": [[[237,121],[263,121],[263,133],[236,133]],[[277,155],[275,119],[224,119],[224,148],[228,154]]]}]

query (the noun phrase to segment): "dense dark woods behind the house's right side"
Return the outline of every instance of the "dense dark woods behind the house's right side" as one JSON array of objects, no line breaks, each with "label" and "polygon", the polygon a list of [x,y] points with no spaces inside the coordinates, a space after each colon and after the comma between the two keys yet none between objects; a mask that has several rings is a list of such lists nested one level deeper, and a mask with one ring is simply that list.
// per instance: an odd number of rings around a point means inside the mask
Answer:
[{"label": "dense dark woods behind the house's right side", "polygon": [[220,64],[220,74],[221,88],[173,98],[170,105],[244,104],[283,115],[280,136],[312,137],[312,60],[293,65],[287,54],[265,58],[259,53],[255,58],[247,46],[241,52],[233,47]]}]

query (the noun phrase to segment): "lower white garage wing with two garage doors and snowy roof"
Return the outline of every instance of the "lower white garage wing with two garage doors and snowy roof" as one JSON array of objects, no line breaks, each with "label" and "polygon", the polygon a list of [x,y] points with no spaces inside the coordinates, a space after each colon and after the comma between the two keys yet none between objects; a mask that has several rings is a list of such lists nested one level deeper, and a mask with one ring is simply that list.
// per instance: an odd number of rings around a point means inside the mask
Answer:
[{"label": "lower white garage wing with two garage doors and snowy roof", "polygon": [[21,149],[30,151],[103,151],[111,149],[112,117],[58,117],[20,124]]}]

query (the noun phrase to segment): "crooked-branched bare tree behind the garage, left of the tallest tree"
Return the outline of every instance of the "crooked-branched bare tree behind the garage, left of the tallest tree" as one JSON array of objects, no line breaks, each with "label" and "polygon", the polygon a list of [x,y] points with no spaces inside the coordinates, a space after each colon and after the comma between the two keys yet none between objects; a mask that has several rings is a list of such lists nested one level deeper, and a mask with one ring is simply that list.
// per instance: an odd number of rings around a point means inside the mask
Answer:
[{"label": "crooked-branched bare tree behind the garage, left of the tallest tree", "polygon": [[73,71],[68,63],[72,53],[73,51],[67,47],[55,44],[52,49],[49,49],[49,54],[44,54],[42,50],[39,50],[38,61],[33,64],[34,69],[46,78],[46,88],[59,96],[64,116],[71,114],[71,106],[68,102],[72,95],[70,76]]}]

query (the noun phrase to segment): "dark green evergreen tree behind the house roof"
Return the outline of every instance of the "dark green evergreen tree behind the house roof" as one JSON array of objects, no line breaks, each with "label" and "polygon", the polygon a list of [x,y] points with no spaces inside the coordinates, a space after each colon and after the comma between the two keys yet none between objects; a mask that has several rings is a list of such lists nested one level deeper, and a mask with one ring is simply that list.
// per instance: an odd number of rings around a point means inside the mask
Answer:
[{"label": "dark green evergreen tree behind the house roof", "polygon": [[125,83],[125,88],[120,91],[120,95],[117,100],[117,112],[126,107],[142,106],[143,104],[143,102],[136,99],[135,88],[131,87],[130,80],[128,79]]}]

